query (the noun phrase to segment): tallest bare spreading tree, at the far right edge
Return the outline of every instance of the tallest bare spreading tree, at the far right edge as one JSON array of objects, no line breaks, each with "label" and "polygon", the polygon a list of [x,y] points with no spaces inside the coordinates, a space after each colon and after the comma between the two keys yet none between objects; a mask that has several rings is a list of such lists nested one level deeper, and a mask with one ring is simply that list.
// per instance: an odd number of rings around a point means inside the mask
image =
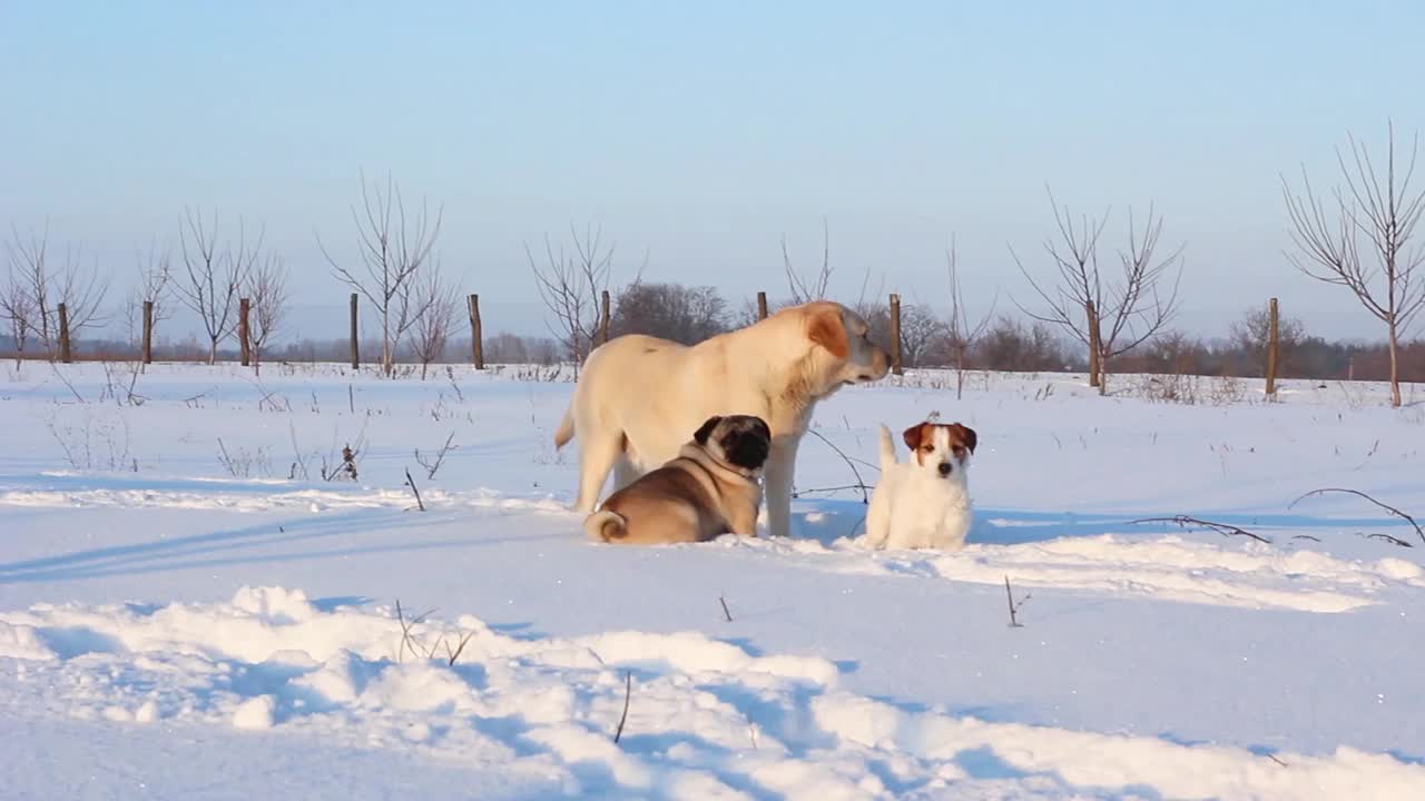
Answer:
[{"label": "tallest bare spreading tree, at the far right edge", "polygon": [[[1302,194],[1291,191],[1281,178],[1281,194],[1291,218],[1295,254],[1291,264],[1317,281],[1349,289],[1368,312],[1385,324],[1391,355],[1391,406],[1401,405],[1399,338],[1415,314],[1425,305],[1425,281],[1416,268],[1425,262],[1425,247],[1411,247],[1415,225],[1425,212],[1425,191],[1412,191],[1419,134],[1411,141],[1408,164],[1395,164],[1395,125],[1387,125],[1384,175],[1365,145],[1347,134],[1349,161],[1337,148],[1337,165],[1347,190],[1332,191],[1327,208],[1311,190],[1305,167],[1301,168]],[[1362,255],[1359,237],[1365,238]]]}]

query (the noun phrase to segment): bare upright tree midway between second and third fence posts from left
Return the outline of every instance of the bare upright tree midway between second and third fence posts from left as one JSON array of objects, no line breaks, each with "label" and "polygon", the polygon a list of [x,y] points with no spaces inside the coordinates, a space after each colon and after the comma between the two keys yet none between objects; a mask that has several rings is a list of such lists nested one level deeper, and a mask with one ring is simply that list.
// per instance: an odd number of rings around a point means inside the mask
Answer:
[{"label": "bare upright tree midway between second and third fence posts from left", "polygon": [[238,294],[262,249],[262,232],[248,247],[247,227],[238,218],[238,241],[218,248],[218,212],[204,222],[202,210],[184,210],[178,222],[184,277],[175,285],[178,299],[198,315],[208,335],[208,363],[218,361],[218,343],[238,328]]}]

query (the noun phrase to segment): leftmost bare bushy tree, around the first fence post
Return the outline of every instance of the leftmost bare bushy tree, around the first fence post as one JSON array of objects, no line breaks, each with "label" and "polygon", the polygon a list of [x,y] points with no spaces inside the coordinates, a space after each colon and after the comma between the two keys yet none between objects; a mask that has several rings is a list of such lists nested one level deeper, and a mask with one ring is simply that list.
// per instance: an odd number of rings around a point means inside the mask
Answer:
[{"label": "leftmost bare bushy tree, around the first fence post", "polygon": [[[108,322],[100,314],[108,295],[108,281],[100,277],[97,265],[93,269],[84,268],[83,245],[66,245],[64,264],[56,268],[50,264],[47,224],[41,232],[30,229],[26,237],[11,225],[10,234],[11,241],[6,244],[6,249],[10,262],[9,289],[13,292],[7,292],[6,305],[26,312],[26,332],[38,336],[50,358],[58,345],[60,304],[64,304],[71,336]],[[19,325],[10,312],[6,316],[11,326]]]}]

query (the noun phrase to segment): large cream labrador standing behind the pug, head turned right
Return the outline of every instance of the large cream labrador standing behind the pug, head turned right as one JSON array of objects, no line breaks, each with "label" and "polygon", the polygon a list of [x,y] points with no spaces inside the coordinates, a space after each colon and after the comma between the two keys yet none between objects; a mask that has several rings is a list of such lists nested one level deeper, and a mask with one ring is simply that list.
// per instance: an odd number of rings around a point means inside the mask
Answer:
[{"label": "large cream labrador standing behind the pug, head turned right", "polygon": [[797,446],[817,402],[889,369],[868,334],[851,309],[814,301],[691,348],[641,335],[600,345],[554,433],[556,448],[579,436],[576,510],[594,510],[610,470],[618,490],[675,458],[708,418],[755,415],[772,435],[767,529],[789,534]]}]

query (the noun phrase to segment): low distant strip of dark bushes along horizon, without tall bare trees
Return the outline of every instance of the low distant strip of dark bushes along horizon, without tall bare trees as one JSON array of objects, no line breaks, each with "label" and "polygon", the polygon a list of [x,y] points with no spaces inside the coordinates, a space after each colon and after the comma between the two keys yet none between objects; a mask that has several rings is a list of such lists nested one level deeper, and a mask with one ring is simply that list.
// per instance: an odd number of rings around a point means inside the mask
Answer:
[{"label": "low distant strip of dark bushes along horizon, without tall bare trees", "polygon": [[[770,311],[791,304],[770,304]],[[671,282],[640,281],[613,294],[610,336],[644,334],[695,345],[710,336],[755,322],[751,312],[734,306],[712,286],[684,286]],[[891,336],[889,306],[882,299],[854,304],[869,324],[872,338],[888,342]],[[1284,316],[1278,326],[1281,378],[1387,381],[1389,379],[1389,348],[1387,342],[1327,341],[1307,331],[1305,324]],[[393,351],[395,362],[462,363],[470,359],[469,336],[452,336],[440,343],[436,353],[422,353],[420,342],[408,339]],[[929,304],[913,302],[901,306],[901,358],[909,369],[955,368],[958,345],[950,314],[938,312]],[[268,343],[266,361],[285,362],[342,362],[349,358],[345,338],[301,339]],[[361,342],[361,352],[370,363],[382,363],[382,341]],[[17,355],[16,341],[0,335],[0,353]],[[43,358],[43,352],[28,351]],[[134,359],[137,339],[87,338],[76,348],[78,359]],[[235,348],[219,348],[217,359],[235,359]],[[484,338],[484,359],[489,363],[551,365],[570,361],[566,342],[551,336],[496,334]],[[208,362],[214,358],[212,342],[197,334],[185,339],[160,338],[154,358],[177,362]],[[1399,345],[1401,381],[1425,382],[1425,339]],[[965,351],[966,369],[1012,372],[1083,372],[1087,369],[1087,349],[1062,336],[1053,325],[999,314],[986,325]],[[1168,329],[1133,351],[1116,358],[1119,372],[1181,373],[1207,376],[1261,378],[1267,365],[1267,312],[1248,309],[1234,322],[1224,338],[1204,339]]]}]

